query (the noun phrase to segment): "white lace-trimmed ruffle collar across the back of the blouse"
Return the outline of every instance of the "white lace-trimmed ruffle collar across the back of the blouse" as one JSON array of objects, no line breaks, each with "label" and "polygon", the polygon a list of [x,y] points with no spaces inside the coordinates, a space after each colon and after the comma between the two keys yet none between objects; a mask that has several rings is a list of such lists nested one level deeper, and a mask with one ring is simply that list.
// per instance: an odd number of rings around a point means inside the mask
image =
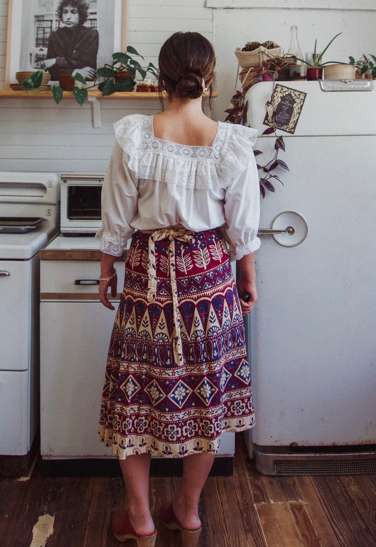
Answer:
[{"label": "white lace-trimmed ruffle collar across the back of the blouse", "polygon": [[210,147],[187,146],[155,137],[152,120],[131,114],[114,124],[117,142],[137,178],[186,188],[225,188],[245,170],[256,142],[256,130],[219,122]]}]

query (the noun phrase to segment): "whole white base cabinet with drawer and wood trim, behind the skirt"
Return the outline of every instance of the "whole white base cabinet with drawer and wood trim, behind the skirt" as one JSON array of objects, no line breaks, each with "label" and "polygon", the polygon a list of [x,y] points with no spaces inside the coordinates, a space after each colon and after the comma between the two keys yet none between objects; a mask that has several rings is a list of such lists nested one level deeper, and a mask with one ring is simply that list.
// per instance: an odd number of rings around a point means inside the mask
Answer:
[{"label": "whole white base cabinet with drawer and wood trim, behind the skirt", "polygon": [[[116,312],[102,306],[98,287],[92,284],[98,280],[99,259],[95,257],[100,253],[51,251],[58,243],[52,242],[42,250],[40,262],[42,456],[45,459],[113,457],[111,449],[98,442],[97,432]],[[60,259],[64,256],[70,259]],[[124,261],[115,263],[115,267],[117,293],[121,293]],[[116,309],[119,300],[113,304]],[[233,454],[234,433],[224,433],[219,456]]]}]

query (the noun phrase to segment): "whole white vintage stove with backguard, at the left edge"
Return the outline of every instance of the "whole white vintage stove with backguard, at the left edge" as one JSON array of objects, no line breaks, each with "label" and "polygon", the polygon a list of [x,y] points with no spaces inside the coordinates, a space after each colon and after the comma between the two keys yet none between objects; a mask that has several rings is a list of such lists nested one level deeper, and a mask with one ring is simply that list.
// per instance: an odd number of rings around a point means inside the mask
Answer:
[{"label": "whole white vintage stove with backguard, at the left edge", "polygon": [[24,456],[39,424],[39,251],[58,233],[55,173],[0,172],[0,455]]}]

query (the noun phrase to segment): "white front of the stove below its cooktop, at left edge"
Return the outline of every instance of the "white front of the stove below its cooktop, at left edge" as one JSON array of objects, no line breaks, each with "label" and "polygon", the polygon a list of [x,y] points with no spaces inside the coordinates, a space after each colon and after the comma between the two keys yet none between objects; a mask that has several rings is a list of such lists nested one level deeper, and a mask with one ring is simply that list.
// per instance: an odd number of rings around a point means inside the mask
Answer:
[{"label": "white front of the stove below its cooktop, at left edge", "polygon": [[0,271],[0,454],[23,456],[38,427],[39,253]]}]

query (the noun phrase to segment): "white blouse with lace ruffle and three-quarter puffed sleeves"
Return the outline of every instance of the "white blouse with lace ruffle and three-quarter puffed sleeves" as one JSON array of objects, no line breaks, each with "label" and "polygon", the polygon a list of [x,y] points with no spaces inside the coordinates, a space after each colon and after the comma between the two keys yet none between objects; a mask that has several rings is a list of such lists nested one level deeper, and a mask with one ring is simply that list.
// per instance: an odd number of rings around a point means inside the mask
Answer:
[{"label": "white blouse with lace ruffle and three-quarter puffed sleeves", "polygon": [[252,146],[257,131],[219,122],[211,146],[154,136],[153,117],[132,114],[114,125],[116,143],[102,188],[104,253],[120,256],[134,230],[181,224],[224,229],[230,259],[260,247],[260,188]]}]

